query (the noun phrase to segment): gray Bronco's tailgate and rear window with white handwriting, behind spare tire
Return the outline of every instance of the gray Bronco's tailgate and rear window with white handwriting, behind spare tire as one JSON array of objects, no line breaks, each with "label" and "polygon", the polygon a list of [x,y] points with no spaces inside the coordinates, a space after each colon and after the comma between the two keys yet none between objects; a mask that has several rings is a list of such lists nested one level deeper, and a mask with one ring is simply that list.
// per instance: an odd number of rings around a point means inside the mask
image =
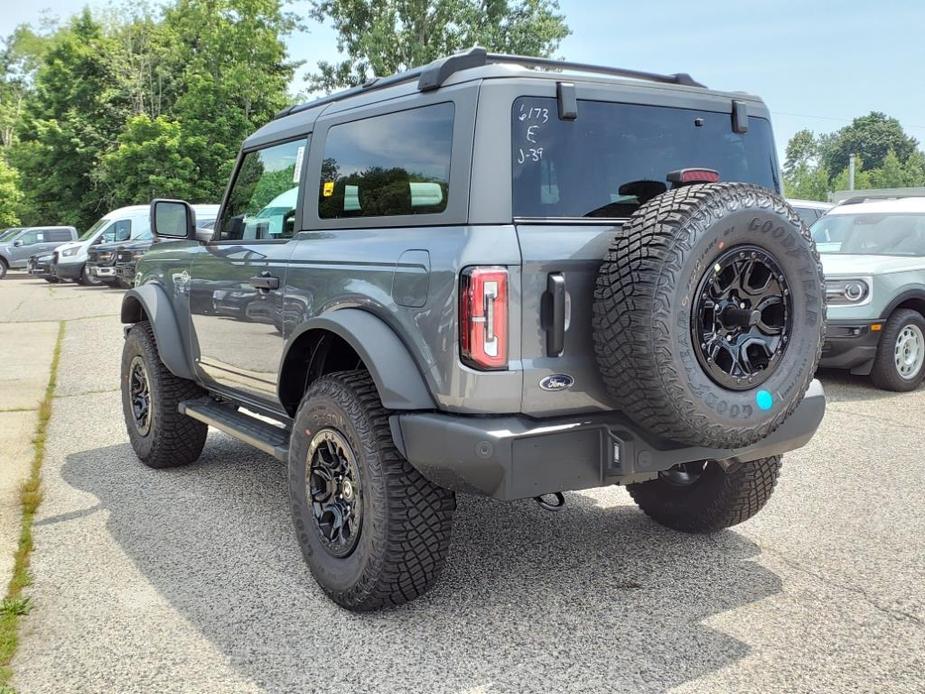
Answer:
[{"label": "gray Bronco's tailgate and rear window with white handwriting, behind spare tire", "polygon": [[711,169],[723,181],[780,189],[770,122],[749,117],[747,128],[736,129],[728,97],[686,98],[699,108],[559,102],[524,96],[511,111],[512,211],[523,257],[522,409],[536,415],[606,407],[592,337],[594,284],[614,235],[668,190],[669,173]]}]

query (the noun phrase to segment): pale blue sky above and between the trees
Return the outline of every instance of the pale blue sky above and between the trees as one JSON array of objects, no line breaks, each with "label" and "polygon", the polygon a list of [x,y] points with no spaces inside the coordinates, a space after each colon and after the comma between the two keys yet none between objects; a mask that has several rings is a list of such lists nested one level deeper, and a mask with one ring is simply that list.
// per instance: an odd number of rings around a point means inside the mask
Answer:
[{"label": "pale blue sky above and between the trees", "polygon": [[[0,0],[0,35],[43,12],[67,17],[98,0]],[[651,72],[688,72],[712,88],[761,96],[778,151],[803,128],[831,132],[870,111],[898,118],[925,142],[922,0],[560,0],[572,35],[557,57]],[[298,9],[300,3],[293,3]],[[307,7],[307,2],[301,3]],[[288,37],[290,58],[337,57],[330,27],[308,21]],[[293,92],[304,89],[302,75]]]}]

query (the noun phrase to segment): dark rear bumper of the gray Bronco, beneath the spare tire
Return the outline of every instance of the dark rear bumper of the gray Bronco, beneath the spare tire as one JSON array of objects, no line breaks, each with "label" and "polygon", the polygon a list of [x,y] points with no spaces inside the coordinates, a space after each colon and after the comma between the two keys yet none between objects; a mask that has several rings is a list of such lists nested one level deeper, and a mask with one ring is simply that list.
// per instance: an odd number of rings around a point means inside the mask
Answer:
[{"label": "dark rear bumper of the gray Bronco, beneath the spare tire", "polygon": [[824,414],[825,393],[813,381],[777,431],[735,450],[658,440],[614,412],[552,419],[408,412],[394,415],[391,425],[401,452],[435,484],[520,499],[650,479],[678,463],[744,462],[785,453],[805,445]]}]

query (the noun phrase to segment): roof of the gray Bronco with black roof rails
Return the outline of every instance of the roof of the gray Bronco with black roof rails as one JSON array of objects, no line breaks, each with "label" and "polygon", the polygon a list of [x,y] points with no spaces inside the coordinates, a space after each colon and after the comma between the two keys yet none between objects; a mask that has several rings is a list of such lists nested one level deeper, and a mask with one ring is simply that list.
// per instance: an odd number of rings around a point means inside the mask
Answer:
[{"label": "roof of the gray Bronco with black roof rails", "polygon": [[[426,93],[443,86],[484,79],[530,78],[573,83],[603,85],[626,85],[636,88],[648,84],[651,88],[668,88],[697,95],[711,95],[729,100],[763,102],[756,96],[744,92],[722,92],[707,89],[687,73],[659,74],[576,63],[549,58],[489,53],[484,48],[471,48],[446,58],[412,68],[388,77],[375,77],[366,83],[344,91],[324,96],[304,104],[290,106],[280,111],[273,121],[253,133],[244,142],[244,147],[265,144],[274,139],[297,136],[306,127],[311,127],[323,112],[337,105],[337,109],[352,108],[375,101],[386,101],[414,93]],[[364,98],[366,97],[366,98]],[[348,105],[349,104],[349,105]]]}]

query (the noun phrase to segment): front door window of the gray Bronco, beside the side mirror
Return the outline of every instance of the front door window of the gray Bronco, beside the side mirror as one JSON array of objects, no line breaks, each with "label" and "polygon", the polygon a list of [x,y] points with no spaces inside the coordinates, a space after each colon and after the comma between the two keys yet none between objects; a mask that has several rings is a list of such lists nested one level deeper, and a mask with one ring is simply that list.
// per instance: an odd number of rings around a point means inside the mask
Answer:
[{"label": "front door window of the gray Bronco, beside the side mirror", "polygon": [[222,211],[222,241],[292,238],[308,144],[305,138],[244,155]]}]

